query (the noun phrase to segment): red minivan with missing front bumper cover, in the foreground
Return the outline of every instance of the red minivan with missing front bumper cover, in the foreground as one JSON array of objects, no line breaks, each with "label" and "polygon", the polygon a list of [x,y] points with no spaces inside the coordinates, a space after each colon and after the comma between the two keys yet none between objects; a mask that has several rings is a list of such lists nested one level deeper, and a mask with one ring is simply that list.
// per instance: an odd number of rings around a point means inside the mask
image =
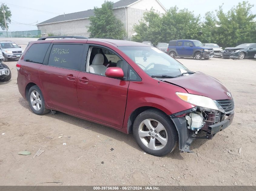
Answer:
[{"label": "red minivan with missing front bumper cover, in the foreground", "polygon": [[156,156],[177,143],[191,152],[194,139],[212,139],[232,123],[234,100],[220,81],[155,47],[48,38],[29,43],[16,65],[19,92],[38,115],[57,110],[133,133],[140,148]]}]

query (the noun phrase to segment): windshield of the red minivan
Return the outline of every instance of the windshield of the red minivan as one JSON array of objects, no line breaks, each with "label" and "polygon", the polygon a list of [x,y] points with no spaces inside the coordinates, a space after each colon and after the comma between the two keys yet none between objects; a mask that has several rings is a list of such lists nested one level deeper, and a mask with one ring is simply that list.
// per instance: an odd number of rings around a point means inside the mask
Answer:
[{"label": "windshield of the red minivan", "polygon": [[177,60],[155,47],[149,46],[118,46],[149,76],[177,76],[191,72]]}]

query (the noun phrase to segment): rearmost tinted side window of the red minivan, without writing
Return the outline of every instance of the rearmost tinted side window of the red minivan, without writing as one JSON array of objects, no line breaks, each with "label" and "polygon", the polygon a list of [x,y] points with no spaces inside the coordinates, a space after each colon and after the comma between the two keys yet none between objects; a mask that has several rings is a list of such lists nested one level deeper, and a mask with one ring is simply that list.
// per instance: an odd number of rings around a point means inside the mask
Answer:
[{"label": "rearmost tinted side window of the red minivan, without writing", "polygon": [[23,59],[28,62],[36,62],[42,64],[50,44],[51,43],[32,44],[24,55]]}]

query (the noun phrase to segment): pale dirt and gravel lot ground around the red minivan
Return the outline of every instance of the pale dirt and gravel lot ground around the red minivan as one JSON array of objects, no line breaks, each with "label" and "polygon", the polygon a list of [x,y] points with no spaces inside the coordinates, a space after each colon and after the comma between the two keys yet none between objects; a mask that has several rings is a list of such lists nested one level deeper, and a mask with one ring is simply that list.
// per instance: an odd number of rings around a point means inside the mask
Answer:
[{"label": "pale dirt and gravel lot ground around the red minivan", "polygon": [[[60,112],[35,115],[18,94],[17,61],[7,62],[12,79],[0,83],[0,185],[256,185],[256,60],[178,60],[225,84],[235,117],[212,140],[195,140],[194,153],[176,149],[165,157],[145,154],[133,135],[115,129]],[[45,152],[33,158],[39,148]],[[238,148],[241,156],[228,152]],[[32,154],[18,155],[24,150]]]}]

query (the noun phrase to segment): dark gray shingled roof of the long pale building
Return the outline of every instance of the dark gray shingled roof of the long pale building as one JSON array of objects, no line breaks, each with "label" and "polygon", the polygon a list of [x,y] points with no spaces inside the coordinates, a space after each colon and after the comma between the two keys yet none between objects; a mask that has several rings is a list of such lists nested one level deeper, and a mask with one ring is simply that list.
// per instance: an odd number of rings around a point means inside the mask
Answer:
[{"label": "dark gray shingled roof of the long pale building", "polygon": [[[131,5],[137,1],[139,0],[121,0],[114,3],[113,9],[120,8],[120,7],[127,7],[128,5]],[[84,19],[91,16],[94,16],[94,9],[90,9],[87,11],[80,11],[76,13],[58,15],[57,17],[38,23],[37,25],[57,23],[57,22],[70,21],[70,20],[79,20],[79,19]]]}]

